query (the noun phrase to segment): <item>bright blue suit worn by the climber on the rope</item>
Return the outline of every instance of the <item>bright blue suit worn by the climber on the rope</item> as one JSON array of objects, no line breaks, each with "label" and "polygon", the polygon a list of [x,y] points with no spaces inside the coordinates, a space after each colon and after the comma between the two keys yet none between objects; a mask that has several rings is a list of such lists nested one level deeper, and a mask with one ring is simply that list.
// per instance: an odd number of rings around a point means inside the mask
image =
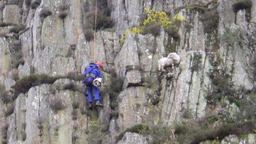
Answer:
[{"label": "bright blue suit worn by the climber on the rope", "polygon": [[101,71],[98,69],[98,65],[91,63],[89,67],[85,69],[84,76],[86,78],[85,85],[87,87],[88,102],[92,103],[93,101],[92,89],[94,89],[95,101],[100,101],[101,100],[100,92],[98,88],[92,84],[95,78],[102,78]]}]

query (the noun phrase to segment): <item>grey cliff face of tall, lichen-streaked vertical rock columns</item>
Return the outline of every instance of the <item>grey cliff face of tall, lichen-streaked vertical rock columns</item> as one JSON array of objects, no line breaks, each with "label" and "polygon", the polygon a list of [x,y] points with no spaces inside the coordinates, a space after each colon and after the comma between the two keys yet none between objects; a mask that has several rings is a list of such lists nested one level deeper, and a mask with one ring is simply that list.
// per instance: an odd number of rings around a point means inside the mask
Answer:
[{"label": "grey cliff face of tall, lichen-streaked vertical rock columns", "polygon": [[[216,106],[217,99],[246,98],[254,91],[255,1],[103,0],[99,5],[109,12],[103,19],[111,18],[113,27],[96,32],[96,49],[88,26],[93,4],[0,1],[3,143],[146,144],[150,138],[136,133],[126,133],[119,142],[117,136],[139,123],[173,127],[177,121],[202,119],[223,108]],[[175,34],[163,29],[158,36],[128,34],[120,43],[124,32],[141,21],[144,7],[166,11],[169,17],[179,14],[188,22]],[[159,76],[158,59],[170,52],[177,52],[181,62],[172,74]],[[104,65],[104,107],[88,110],[79,75],[94,54]],[[227,103],[230,117],[242,111]],[[253,137],[249,135],[249,143]]]}]

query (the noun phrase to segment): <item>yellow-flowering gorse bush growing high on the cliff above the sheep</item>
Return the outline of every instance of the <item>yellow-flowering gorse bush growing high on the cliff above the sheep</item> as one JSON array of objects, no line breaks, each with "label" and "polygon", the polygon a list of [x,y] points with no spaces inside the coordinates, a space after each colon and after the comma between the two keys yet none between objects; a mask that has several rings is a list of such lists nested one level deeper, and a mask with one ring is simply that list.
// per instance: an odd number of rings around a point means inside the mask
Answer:
[{"label": "yellow-flowering gorse bush growing high on the cliff above the sheep", "polygon": [[144,32],[145,27],[151,23],[157,23],[166,30],[169,28],[175,28],[177,24],[174,22],[187,22],[186,18],[183,18],[178,14],[173,17],[174,21],[171,21],[164,11],[156,11],[154,9],[147,8],[144,8],[144,11],[146,12],[146,19],[142,23],[138,23],[135,27],[126,30],[123,38],[120,40],[121,44],[124,43],[124,40],[126,39],[128,34],[141,34]]}]

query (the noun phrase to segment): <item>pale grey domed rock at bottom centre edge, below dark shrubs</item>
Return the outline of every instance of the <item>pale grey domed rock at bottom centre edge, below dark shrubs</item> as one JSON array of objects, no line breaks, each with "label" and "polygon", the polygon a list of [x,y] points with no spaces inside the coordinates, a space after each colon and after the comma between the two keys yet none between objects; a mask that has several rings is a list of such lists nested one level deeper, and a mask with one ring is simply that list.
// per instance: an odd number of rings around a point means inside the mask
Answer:
[{"label": "pale grey domed rock at bottom centre edge, below dark shrubs", "polygon": [[117,144],[148,144],[145,137],[137,133],[125,133]]}]

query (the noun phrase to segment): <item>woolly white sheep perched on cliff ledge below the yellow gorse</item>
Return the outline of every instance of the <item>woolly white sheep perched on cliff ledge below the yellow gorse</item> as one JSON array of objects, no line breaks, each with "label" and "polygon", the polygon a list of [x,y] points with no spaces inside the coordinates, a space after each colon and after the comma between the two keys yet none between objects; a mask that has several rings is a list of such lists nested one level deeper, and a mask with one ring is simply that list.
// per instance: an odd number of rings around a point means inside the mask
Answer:
[{"label": "woolly white sheep perched on cliff ledge below the yellow gorse", "polygon": [[174,69],[174,66],[178,66],[181,58],[177,53],[170,53],[167,57],[163,57],[158,60],[158,70],[165,71],[167,67]]}]

